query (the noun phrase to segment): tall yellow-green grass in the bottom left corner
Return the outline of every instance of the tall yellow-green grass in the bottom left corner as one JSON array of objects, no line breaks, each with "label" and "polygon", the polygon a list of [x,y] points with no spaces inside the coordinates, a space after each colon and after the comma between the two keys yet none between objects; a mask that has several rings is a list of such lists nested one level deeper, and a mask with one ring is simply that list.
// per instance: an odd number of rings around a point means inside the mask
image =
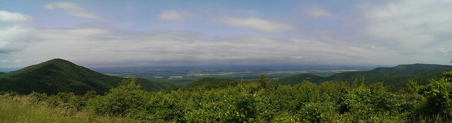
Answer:
[{"label": "tall yellow-green grass in the bottom left corner", "polygon": [[0,122],[140,122],[128,117],[100,116],[90,111],[55,108],[28,96],[0,95]]}]

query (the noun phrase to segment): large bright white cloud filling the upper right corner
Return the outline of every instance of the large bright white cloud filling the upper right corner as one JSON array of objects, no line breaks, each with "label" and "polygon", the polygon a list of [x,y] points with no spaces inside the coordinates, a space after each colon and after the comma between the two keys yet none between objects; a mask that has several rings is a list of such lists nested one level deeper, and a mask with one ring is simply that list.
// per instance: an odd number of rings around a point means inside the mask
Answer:
[{"label": "large bright white cloud filling the upper right corner", "polygon": [[419,49],[445,42],[452,34],[452,1],[389,1],[381,6],[358,5],[367,21],[365,33],[393,40],[402,48]]}]

